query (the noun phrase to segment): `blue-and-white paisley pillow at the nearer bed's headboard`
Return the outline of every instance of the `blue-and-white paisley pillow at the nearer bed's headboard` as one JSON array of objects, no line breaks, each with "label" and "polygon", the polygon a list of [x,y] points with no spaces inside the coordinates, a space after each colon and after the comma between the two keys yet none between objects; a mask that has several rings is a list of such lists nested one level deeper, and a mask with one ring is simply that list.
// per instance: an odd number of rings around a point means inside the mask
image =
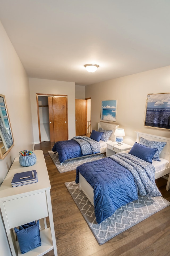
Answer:
[{"label": "blue-and-white paisley pillow at the nearer bed's headboard", "polygon": [[148,141],[147,139],[144,139],[142,137],[140,138],[139,143],[146,147],[158,149],[158,151],[156,151],[156,153],[152,157],[152,160],[155,160],[155,161],[160,161],[160,159],[159,159],[160,152],[163,149],[163,147],[167,144],[165,141]]}]

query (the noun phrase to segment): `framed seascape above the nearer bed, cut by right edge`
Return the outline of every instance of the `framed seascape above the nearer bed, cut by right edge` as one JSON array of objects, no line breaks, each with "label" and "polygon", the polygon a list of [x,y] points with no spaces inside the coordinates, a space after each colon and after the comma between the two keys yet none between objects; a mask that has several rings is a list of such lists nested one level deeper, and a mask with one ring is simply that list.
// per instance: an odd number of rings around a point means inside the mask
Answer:
[{"label": "framed seascape above the nearer bed, cut by right edge", "polygon": [[145,126],[170,129],[170,93],[147,95]]}]

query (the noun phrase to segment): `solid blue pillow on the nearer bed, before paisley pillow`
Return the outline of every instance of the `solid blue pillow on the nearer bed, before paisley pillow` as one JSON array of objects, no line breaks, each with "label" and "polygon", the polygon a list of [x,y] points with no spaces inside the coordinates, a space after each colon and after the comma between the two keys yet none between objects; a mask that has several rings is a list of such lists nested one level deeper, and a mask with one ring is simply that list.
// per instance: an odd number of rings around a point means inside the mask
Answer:
[{"label": "solid blue pillow on the nearer bed, before paisley pillow", "polygon": [[158,149],[146,147],[137,142],[134,143],[133,147],[129,151],[129,154],[135,155],[136,157],[145,160],[148,163],[152,163],[152,157]]}]

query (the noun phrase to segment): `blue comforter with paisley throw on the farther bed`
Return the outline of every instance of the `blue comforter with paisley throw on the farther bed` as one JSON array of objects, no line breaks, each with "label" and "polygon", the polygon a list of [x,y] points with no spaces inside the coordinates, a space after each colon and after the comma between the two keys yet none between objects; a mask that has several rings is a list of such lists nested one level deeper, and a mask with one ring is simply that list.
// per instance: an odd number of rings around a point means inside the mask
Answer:
[{"label": "blue comforter with paisley throw on the farther bed", "polygon": [[52,148],[58,152],[58,159],[63,163],[67,159],[100,153],[100,143],[86,136],[75,136],[68,141],[58,141]]}]

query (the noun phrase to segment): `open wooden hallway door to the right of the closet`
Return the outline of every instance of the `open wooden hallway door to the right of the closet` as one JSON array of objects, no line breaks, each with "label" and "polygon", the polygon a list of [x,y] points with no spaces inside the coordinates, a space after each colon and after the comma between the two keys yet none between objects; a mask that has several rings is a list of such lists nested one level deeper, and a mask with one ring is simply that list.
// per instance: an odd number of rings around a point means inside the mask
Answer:
[{"label": "open wooden hallway door to the right of the closet", "polygon": [[87,110],[85,99],[75,99],[75,131],[76,136],[87,133]]}]

